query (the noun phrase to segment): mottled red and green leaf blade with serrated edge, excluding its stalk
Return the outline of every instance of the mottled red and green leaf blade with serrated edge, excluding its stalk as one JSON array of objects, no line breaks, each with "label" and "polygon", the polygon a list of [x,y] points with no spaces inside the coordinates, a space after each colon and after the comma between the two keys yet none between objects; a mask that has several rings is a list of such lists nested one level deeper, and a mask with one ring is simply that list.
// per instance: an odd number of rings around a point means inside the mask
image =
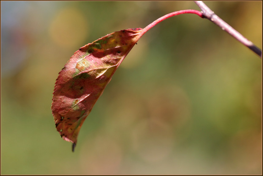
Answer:
[{"label": "mottled red and green leaf blade with serrated edge, excluding its stalk", "polygon": [[87,44],[60,71],[51,109],[56,129],[73,143],[72,151],[83,122],[141,32],[141,28],[121,30]]}]

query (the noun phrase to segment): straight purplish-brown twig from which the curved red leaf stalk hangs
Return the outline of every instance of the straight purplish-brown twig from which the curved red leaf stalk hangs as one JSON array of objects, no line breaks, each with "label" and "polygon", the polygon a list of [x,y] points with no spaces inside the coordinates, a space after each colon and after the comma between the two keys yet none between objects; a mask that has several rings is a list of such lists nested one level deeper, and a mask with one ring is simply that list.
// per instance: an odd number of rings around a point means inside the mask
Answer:
[{"label": "straight purplish-brown twig from which the curved red leaf stalk hangs", "polygon": [[238,31],[232,28],[229,24],[219,18],[207,5],[205,5],[202,1],[194,1],[197,6],[202,10],[203,18],[207,18],[208,20],[212,21],[216,25],[218,25],[222,30],[229,33],[235,39],[237,39],[240,43],[248,47],[254,53],[259,55],[262,58],[262,51],[261,49],[257,48],[251,41],[247,40],[244,36],[242,36]]}]

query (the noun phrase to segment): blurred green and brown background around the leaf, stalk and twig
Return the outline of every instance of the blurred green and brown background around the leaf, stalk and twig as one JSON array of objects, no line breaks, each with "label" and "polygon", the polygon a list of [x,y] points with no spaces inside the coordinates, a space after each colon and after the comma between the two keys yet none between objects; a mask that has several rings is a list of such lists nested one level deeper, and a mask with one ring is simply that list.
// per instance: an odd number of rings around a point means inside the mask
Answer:
[{"label": "blurred green and brown background around the leaf, stalk and twig", "polygon": [[[205,2],[259,48],[262,2]],[[52,93],[78,48],[194,2],[1,1],[1,174],[261,174],[261,59],[194,14],[150,29],[115,72],[75,152]]]}]

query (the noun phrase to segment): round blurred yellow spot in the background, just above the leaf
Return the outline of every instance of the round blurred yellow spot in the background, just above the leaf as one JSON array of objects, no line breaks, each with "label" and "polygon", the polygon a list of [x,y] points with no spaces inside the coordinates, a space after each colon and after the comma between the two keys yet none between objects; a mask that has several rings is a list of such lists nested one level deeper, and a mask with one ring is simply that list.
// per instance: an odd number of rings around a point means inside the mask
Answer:
[{"label": "round blurred yellow spot in the background, just above the leaf", "polygon": [[66,7],[53,18],[49,27],[51,39],[61,47],[80,47],[88,36],[87,19],[79,10]]}]

